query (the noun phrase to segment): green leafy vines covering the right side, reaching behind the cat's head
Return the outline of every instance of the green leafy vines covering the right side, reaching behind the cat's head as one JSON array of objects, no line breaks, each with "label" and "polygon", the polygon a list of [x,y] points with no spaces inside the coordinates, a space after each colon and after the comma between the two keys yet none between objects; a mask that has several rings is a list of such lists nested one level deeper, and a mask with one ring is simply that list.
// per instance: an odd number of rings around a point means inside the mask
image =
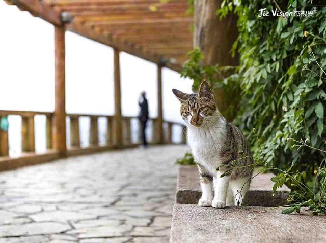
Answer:
[{"label": "green leafy vines covering the right side, reaching behind the cat's head", "polygon": [[[313,16],[258,17],[261,8],[275,10],[274,1],[225,0],[216,13],[221,18],[230,11],[238,15],[233,47],[240,65],[235,74],[221,75],[223,67],[203,64],[199,49],[189,54],[182,72],[194,79],[194,89],[204,78],[213,88],[240,88],[234,123],[248,138],[256,161],[263,157],[262,165],[277,173],[274,192],[283,184],[291,187],[293,205],[283,213],[300,212],[301,206],[325,213],[326,176],[320,163],[325,163],[326,150],[326,7],[322,1],[313,4]],[[305,0],[278,5],[292,12],[313,7]],[[301,138],[306,140],[294,150]]]}]

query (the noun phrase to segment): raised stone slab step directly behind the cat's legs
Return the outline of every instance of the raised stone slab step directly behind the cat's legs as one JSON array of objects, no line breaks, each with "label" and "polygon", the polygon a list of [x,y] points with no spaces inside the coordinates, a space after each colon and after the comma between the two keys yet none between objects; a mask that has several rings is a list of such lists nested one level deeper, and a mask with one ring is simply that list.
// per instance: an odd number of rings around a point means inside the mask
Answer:
[{"label": "raised stone slab step directly behind the cat's legs", "polygon": [[[261,173],[253,178],[243,204],[249,206],[285,205],[290,190],[283,185],[282,188],[278,188],[273,196],[271,177],[274,177],[271,173]],[[197,204],[201,194],[197,167],[192,165],[179,166],[176,203]]]}]

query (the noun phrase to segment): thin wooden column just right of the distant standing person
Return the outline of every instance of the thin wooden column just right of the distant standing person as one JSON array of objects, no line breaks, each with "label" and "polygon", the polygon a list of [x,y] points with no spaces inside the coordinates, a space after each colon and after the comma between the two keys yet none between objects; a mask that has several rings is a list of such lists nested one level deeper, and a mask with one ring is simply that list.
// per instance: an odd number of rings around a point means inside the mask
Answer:
[{"label": "thin wooden column just right of the distant standing person", "polygon": [[163,137],[163,106],[162,106],[162,66],[157,65],[157,123],[156,123],[156,138],[157,143],[164,142]]}]

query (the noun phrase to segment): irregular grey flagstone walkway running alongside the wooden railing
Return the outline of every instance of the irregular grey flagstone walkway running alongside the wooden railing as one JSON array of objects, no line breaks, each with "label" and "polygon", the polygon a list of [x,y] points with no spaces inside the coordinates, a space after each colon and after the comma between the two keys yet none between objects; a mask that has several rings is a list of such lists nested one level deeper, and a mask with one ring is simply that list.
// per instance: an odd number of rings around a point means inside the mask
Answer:
[{"label": "irregular grey flagstone walkway running alongside the wooden railing", "polygon": [[168,145],[0,173],[0,242],[168,242],[176,158]]}]

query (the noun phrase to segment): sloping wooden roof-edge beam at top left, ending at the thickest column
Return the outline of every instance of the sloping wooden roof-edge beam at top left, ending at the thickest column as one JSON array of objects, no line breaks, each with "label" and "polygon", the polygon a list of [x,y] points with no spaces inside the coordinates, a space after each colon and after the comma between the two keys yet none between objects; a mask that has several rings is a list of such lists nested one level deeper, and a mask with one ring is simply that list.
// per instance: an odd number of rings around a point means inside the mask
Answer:
[{"label": "sloping wooden roof-edge beam at top left, ending at the thickest column", "polygon": [[52,9],[47,4],[39,0],[14,0],[18,8],[29,11],[33,16],[40,17],[56,26],[62,26],[60,12]]}]

